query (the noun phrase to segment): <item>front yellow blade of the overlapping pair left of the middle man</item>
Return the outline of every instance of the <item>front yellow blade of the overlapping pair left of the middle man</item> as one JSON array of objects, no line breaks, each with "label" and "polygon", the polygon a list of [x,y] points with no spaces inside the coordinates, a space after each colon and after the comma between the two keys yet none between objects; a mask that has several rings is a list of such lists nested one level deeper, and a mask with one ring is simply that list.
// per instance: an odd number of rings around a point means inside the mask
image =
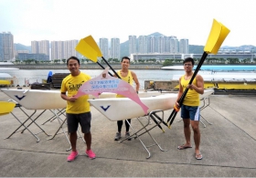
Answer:
[{"label": "front yellow blade of the overlapping pair left of the middle man", "polygon": [[97,62],[97,52],[84,39],[80,39],[76,50],[82,56],[91,59],[93,62]]}]

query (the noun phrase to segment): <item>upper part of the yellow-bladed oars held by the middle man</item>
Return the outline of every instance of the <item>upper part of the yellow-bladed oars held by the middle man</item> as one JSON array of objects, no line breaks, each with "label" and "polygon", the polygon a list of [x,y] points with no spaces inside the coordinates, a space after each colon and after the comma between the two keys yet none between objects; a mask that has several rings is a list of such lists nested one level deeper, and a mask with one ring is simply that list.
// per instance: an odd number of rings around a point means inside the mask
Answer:
[{"label": "upper part of the yellow-bladed oars held by the middle man", "polygon": [[[83,55],[86,58],[90,58],[93,62],[96,62],[100,66],[101,64],[97,61],[97,58],[101,57],[105,61],[105,63],[112,69],[115,76],[121,79],[120,76],[112,68],[112,66],[108,63],[108,61],[105,58],[103,58],[101,54],[101,49],[98,47],[93,37],[88,36],[80,39],[80,42],[76,47],[76,50],[80,52],[81,55]],[[101,66],[101,68],[105,69],[103,66]],[[110,72],[109,74],[112,76]]]}]

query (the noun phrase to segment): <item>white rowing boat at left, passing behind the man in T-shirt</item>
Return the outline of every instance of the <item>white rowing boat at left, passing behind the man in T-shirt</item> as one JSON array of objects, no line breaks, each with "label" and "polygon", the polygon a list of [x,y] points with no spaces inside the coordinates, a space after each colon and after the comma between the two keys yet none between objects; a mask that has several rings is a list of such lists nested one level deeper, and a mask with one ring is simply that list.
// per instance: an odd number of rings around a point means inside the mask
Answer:
[{"label": "white rowing boat at left, passing behind the man in T-shirt", "polygon": [[[27,110],[54,110],[64,109],[67,101],[61,99],[59,90],[42,89],[1,89],[7,96],[15,100]],[[139,97],[160,95],[158,91],[140,92]],[[103,92],[99,99],[115,98],[115,93]],[[90,99],[96,99],[89,96]]]}]

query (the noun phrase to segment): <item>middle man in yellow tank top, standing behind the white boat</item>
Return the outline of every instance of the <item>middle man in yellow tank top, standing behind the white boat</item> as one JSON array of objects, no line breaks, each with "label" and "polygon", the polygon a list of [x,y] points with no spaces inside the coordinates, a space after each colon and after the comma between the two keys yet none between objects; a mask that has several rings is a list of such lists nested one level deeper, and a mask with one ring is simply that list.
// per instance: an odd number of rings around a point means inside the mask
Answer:
[{"label": "middle man in yellow tank top, standing behind the white boat", "polygon": [[[139,80],[138,80],[136,74],[132,70],[129,70],[130,58],[123,57],[121,60],[121,65],[122,65],[122,69],[119,70],[117,72],[117,74],[120,76],[121,79],[123,79],[124,81],[126,81],[127,83],[129,83],[132,86],[133,86],[133,81],[134,81],[135,85],[136,85],[135,89],[138,93],[138,91],[140,89],[140,83],[139,83]],[[116,77],[116,76],[114,76],[114,77]],[[116,97],[123,98],[123,95],[117,94]],[[131,110],[131,111],[133,111],[133,110]],[[129,121],[129,123],[131,124],[131,119],[125,120],[125,129],[126,129],[125,137],[130,136],[130,133],[129,133],[130,125],[127,121]],[[115,141],[119,141],[121,139],[122,126],[123,126],[123,120],[118,120],[117,121],[117,128],[118,128],[117,130],[118,131],[116,132],[116,135],[114,138]],[[128,139],[128,141],[131,141],[131,139]]]}]

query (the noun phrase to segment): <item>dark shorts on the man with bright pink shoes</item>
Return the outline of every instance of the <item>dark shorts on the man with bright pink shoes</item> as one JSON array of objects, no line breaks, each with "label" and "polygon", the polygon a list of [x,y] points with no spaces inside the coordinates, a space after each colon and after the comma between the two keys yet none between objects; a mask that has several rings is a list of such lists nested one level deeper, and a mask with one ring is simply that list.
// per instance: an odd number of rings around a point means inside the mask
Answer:
[{"label": "dark shorts on the man with bright pink shoes", "polygon": [[78,131],[79,123],[81,132],[88,133],[91,130],[91,111],[81,114],[66,113],[69,133]]}]

